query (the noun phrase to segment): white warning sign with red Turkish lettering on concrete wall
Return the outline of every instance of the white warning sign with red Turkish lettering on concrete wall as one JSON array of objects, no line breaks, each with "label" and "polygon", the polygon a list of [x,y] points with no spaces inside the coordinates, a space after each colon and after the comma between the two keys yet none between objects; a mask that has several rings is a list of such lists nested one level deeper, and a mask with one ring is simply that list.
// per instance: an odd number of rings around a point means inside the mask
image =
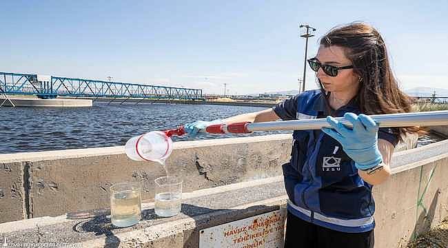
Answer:
[{"label": "white warning sign with red Turkish lettering on concrete wall", "polygon": [[283,247],[286,209],[199,231],[199,247]]}]

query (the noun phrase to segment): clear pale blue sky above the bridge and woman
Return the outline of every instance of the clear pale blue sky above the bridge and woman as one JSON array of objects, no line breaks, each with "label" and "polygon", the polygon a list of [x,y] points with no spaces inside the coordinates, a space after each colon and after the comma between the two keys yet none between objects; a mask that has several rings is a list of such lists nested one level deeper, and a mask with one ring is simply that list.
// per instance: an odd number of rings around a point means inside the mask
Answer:
[{"label": "clear pale blue sky above the bridge and woman", "polygon": [[[448,1],[20,1],[1,3],[0,72],[203,89],[297,90],[305,39],[365,21],[403,90],[448,89]],[[225,84],[225,86],[224,86]],[[305,87],[316,88],[307,68]]]}]

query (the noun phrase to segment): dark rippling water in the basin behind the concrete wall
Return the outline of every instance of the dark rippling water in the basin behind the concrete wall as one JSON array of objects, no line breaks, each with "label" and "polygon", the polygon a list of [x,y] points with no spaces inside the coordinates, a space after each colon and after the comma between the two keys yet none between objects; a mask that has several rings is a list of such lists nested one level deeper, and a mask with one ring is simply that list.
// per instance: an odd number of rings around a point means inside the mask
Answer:
[{"label": "dark rippling water in the basin behind the concrete wall", "polygon": [[[111,104],[95,102],[92,107],[44,108],[0,107],[0,154],[58,149],[124,145],[132,136],[166,130],[196,120],[211,121],[266,107],[184,104]],[[290,133],[203,134],[197,139]],[[188,141],[188,136],[173,141]],[[422,144],[442,140],[422,138]]]}]

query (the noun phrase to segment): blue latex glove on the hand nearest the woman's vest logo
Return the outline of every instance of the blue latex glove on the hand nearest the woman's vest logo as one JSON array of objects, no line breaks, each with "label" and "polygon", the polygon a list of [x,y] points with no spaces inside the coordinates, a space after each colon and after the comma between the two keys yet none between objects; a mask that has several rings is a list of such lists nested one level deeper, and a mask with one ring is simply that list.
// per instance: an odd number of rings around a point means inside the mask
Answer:
[{"label": "blue latex glove on the hand nearest the woman's vest logo", "polygon": [[355,161],[358,169],[367,170],[382,163],[383,156],[378,149],[378,124],[365,114],[345,113],[344,118],[352,123],[353,130],[327,116],[327,122],[334,129],[323,127],[322,131],[343,146],[344,152]]}]

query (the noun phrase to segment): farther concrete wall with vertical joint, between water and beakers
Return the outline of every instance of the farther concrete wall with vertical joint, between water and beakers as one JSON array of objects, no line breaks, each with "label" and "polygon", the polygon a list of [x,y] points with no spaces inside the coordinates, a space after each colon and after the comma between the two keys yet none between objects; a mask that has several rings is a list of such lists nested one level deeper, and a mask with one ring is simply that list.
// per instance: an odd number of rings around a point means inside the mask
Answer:
[{"label": "farther concrete wall with vertical joint, between water and beakers", "polygon": [[[166,166],[191,192],[281,175],[290,149],[289,134],[177,142]],[[165,176],[159,164],[131,161],[123,147],[0,154],[0,165],[10,168],[0,169],[0,223],[108,207],[109,187],[122,181],[141,180],[143,199],[152,199],[154,178]]]}]

